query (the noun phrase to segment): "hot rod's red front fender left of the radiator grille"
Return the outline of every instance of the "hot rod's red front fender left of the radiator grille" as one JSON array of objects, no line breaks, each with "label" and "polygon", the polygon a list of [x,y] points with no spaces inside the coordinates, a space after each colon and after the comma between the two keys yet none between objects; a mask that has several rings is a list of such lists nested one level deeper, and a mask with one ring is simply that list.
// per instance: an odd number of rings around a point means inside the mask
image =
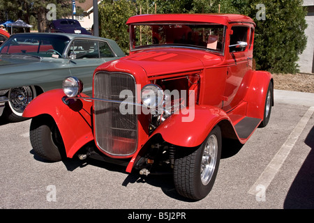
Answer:
[{"label": "hot rod's red front fender left of the radiator grille", "polygon": [[[66,105],[61,100],[63,96],[65,94],[62,89],[38,95],[27,105],[23,117],[33,118],[40,114],[52,116],[61,133],[66,155],[72,158],[82,146],[94,140],[91,125],[92,102],[76,100]],[[87,97],[84,94],[82,96]]]}]

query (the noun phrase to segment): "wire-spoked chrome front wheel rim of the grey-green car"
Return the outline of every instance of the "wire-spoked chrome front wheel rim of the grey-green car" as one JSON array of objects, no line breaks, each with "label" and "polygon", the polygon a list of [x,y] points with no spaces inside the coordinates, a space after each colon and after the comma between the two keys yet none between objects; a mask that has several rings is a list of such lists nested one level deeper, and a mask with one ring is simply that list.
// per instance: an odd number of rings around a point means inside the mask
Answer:
[{"label": "wire-spoked chrome front wheel rim of the grey-green car", "polygon": [[14,114],[22,116],[25,107],[33,100],[31,87],[22,86],[16,89],[10,89],[9,105]]}]

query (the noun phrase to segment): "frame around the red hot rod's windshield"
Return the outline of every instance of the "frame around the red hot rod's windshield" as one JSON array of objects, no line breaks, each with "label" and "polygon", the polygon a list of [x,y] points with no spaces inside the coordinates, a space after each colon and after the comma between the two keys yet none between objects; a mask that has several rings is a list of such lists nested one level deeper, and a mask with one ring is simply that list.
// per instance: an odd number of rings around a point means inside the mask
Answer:
[{"label": "frame around the red hot rod's windshield", "polygon": [[[135,27],[136,26],[217,26],[217,28],[223,29],[223,36],[222,36],[222,45],[221,49],[210,49],[204,46],[200,45],[188,45],[188,44],[179,44],[179,43],[167,43],[167,44],[149,44],[149,45],[133,45],[133,43],[136,42],[135,39]],[[151,49],[154,47],[172,47],[172,48],[188,48],[188,49],[199,49],[204,50],[206,52],[211,52],[214,54],[218,54],[221,56],[224,56],[225,54],[225,41],[226,41],[226,32],[227,32],[227,26],[224,24],[219,23],[204,23],[204,22],[176,22],[176,21],[170,21],[170,22],[141,22],[141,23],[133,23],[129,25],[129,33],[130,33],[130,52],[136,52],[140,51],[142,49]]]}]

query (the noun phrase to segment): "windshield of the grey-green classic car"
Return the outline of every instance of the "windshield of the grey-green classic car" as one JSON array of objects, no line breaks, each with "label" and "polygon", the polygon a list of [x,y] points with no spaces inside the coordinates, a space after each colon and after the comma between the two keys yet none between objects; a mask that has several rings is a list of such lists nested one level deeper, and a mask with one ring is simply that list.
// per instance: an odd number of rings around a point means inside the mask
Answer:
[{"label": "windshield of the grey-green classic car", "polygon": [[69,41],[66,36],[49,34],[15,35],[1,45],[0,53],[60,58]]}]

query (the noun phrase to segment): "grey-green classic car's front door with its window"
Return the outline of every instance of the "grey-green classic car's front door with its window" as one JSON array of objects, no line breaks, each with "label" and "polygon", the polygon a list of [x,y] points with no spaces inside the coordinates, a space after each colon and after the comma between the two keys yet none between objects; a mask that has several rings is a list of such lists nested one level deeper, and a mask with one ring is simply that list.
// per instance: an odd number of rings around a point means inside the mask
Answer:
[{"label": "grey-green classic car's front door with its window", "polygon": [[107,42],[75,39],[68,49],[71,75],[84,83],[84,93],[91,96],[94,70],[106,61],[116,59]]}]

